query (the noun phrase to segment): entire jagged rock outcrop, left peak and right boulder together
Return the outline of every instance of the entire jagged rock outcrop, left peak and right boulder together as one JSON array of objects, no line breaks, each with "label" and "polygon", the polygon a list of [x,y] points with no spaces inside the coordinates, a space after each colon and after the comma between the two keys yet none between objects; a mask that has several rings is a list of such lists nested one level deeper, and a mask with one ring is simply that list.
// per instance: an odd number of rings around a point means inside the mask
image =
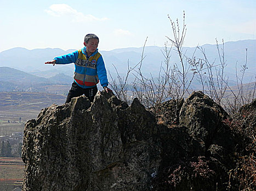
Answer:
[{"label": "entire jagged rock outcrop, left peak and right boulder together", "polygon": [[216,190],[234,154],[228,115],[194,92],[172,126],[171,103],[158,115],[103,91],[43,109],[25,125],[22,190]]}]

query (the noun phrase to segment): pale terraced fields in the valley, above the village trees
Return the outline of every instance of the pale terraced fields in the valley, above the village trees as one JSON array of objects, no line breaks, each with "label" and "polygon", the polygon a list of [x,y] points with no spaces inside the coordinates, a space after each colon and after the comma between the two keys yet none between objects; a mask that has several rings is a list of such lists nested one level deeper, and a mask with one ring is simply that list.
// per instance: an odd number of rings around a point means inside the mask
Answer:
[{"label": "pale terraced fields in the valley, above the village trees", "polygon": [[24,124],[43,108],[64,104],[66,96],[37,92],[0,92],[0,136],[23,132]]}]

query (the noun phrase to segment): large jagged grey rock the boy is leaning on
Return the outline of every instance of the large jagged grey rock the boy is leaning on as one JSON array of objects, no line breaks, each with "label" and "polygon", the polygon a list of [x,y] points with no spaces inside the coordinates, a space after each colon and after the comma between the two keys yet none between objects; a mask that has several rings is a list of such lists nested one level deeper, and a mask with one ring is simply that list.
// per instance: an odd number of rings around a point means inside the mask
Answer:
[{"label": "large jagged grey rock the boy is leaning on", "polygon": [[152,114],[99,92],[52,105],[25,125],[22,190],[149,190],[160,164]]}]

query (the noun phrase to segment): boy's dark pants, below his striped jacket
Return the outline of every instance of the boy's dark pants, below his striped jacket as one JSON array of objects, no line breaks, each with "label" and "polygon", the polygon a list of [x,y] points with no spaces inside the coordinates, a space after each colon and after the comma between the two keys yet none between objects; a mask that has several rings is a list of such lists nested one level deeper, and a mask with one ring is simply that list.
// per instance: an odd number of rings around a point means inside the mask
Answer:
[{"label": "boy's dark pants, below his striped jacket", "polygon": [[93,99],[98,91],[97,86],[92,88],[82,88],[77,85],[77,83],[74,81],[72,83],[72,87],[69,91],[69,94],[67,95],[66,103],[70,103],[71,98],[82,96],[83,94],[90,100],[90,102],[93,102]]}]

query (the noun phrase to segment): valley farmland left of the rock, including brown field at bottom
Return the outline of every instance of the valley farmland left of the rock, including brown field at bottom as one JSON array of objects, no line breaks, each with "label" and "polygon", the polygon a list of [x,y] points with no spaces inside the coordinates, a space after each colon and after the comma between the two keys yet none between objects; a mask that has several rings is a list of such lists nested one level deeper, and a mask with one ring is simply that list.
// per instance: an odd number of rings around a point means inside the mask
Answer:
[{"label": "valley farmland left of the rock, including brown field at bottom", "polygon": [[[28,120],[52,104],[64,104],[66,96],[37,92],[0,92],[0,138],[10,140],[23,133]],[[22,141],[22,137],[20,138]],[[21,158],[0,157],[0,191],[21,187],[24,164]]]}]

